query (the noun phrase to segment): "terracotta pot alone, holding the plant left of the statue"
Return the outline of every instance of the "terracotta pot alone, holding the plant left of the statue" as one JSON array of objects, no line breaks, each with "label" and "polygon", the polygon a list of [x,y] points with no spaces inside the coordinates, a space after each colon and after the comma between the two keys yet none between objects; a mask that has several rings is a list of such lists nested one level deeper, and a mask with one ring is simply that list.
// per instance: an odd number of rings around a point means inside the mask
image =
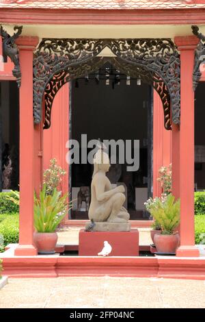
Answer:
[{"label": "terracotta pot alone, holding the plant left of the statue", "polygon": [[55,253],[55,245],[57,243],[56,232],[36,232],[33,235],[34,243],[40,254]]}]

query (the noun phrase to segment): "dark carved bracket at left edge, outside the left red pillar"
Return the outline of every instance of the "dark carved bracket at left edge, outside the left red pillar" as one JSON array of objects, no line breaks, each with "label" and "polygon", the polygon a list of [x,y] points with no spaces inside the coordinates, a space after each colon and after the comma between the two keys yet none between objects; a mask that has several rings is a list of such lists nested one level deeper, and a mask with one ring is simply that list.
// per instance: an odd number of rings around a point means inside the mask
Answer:
[{"label": "dark carved bracket at left edge, outside the left red pillar", "polygon": [[22,32],[23,26],[14,26],[14,31],[17,30],[16,34],[14,33],[13,36],[10,36],[2,27],[0,29],[0,35],[3,39],[3,55],[8,56],[12,62],[14,63],[14,69],[12,71],[14,77],[16,77],[16,82],[18,84],[18,88],[20,87],[20,64],[19,64],[19,57],[18,57],[18,47],[15,44],[16,38],[20,36]]}]

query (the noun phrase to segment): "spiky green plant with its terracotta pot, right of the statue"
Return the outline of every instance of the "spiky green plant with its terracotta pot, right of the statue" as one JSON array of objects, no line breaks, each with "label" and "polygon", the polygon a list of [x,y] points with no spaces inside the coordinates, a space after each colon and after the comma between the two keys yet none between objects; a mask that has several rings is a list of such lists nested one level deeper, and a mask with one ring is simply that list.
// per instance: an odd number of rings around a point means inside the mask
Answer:
[{"label": "spiky green plant with its terracotta pot, right of the statue", "polygon": [[159,225],[161,234],[154,235],[154,245],[159,253],[175,253],[180,237],[176,227],[180,223],[180,200],[167,195],[164,199],[156,198],[150,213]]}]

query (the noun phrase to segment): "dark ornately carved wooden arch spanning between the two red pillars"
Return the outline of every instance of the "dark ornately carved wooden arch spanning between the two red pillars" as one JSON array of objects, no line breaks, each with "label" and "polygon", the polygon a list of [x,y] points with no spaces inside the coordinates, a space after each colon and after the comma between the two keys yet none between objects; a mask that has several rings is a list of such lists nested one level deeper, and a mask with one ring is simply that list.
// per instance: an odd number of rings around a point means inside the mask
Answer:
[{"label": "dark ornately carved wooden arch spanning between the two red pillars", "polygon": [[141,77],[159,92],[165,128],[180,123],[180,59],[170,39],[43,39],[33,60],[33,116],[40,123],[45,94],[44,128],[51,125],[55,94],[66,82],[96,71],[105,47],[115,54],[112,64],[122,73]]}]

